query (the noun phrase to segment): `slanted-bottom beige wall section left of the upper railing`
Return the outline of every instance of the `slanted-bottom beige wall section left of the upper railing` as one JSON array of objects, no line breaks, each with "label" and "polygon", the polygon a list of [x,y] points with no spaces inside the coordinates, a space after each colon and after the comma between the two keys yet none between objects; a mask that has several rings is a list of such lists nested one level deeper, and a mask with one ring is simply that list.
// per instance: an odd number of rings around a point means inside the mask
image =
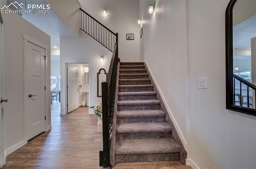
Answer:
[{"label": "slanted-bottom beige wall section left of the upper railing", "polygon": [[80,6],[76,0],[44,0],[63,22],[79,36]]}]

